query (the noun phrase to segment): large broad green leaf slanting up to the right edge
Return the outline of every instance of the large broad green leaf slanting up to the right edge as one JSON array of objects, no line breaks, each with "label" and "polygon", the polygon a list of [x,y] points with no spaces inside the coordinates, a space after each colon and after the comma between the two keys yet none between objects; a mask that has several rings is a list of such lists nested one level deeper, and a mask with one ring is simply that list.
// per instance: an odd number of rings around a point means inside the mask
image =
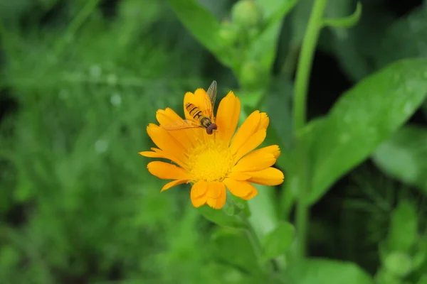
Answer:
[{"label": "large broad green leaf slanting up to the right edge", "polygon": [[426,92],[427,60],[402,60],[344,93],[314,132],[308,201],[319,200],[338,178],[369,157],[418,109]]}]

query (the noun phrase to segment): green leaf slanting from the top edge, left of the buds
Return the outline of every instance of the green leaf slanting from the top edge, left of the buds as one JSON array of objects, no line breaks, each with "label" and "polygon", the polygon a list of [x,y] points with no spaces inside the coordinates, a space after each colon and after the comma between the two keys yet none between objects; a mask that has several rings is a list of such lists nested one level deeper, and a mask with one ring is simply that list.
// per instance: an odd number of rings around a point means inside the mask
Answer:
[{"label": "green leaf slanting from the top edge, left of the buds", "polygon": [[176,16],[190,33],[214,53],[224,65],[233,65],[228,53],[222,53],[223,45],[219,39],[220,23],[218,19],[196,0],[168,0]]}]

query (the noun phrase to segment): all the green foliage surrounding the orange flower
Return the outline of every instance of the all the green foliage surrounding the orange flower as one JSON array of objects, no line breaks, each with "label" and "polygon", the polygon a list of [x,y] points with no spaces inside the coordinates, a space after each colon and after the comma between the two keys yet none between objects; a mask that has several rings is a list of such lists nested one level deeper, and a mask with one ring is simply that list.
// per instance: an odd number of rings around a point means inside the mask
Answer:
[{"label": "all the green foliage surrounding the orange flower", "polygon": [[[426,283],[426,9],[385,2],[0,0],[0,282]],[[137,155],[212,80],[285,172],[223,210]]]}]

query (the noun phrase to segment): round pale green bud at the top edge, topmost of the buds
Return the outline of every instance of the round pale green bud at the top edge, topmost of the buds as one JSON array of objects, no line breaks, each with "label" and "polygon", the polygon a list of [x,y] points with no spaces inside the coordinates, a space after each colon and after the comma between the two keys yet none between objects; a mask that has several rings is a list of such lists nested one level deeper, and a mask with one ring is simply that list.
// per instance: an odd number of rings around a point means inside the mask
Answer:
[{"label": "round pale green bud at the top edge, topmost of the buds", "polygon": [[231,9],[231,17],[241,28],[255,28],[263,21],[263,11],[255,0],[241,0]]}]

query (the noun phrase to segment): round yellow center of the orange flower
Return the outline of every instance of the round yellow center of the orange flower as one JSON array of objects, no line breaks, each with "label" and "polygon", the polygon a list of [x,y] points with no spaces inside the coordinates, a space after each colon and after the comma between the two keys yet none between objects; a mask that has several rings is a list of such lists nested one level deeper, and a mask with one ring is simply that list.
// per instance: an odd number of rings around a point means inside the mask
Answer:
[{"label": "round yellow center of the orange flower", "polygon": [[206,139],[190,150],[188,165],[194,181],[222,181],[233,168],[233,155],[223,143]]}]

